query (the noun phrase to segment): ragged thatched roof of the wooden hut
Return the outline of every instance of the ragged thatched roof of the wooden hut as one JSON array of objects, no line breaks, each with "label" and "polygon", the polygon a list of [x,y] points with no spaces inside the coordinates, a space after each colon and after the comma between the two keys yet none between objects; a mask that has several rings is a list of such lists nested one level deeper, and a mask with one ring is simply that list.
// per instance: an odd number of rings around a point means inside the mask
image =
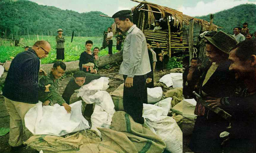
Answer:
[{"label": "ragged thatched roof of the wooden hut", "polygon": [[[171,9],[168,7],[159,6],[154,3],[138,1],[138,0],[131,0],[131,1],[140,3],[138,6],[132,8],[132,11],[134,11],[135,9],[148,10],[148,16],[147,16],[148,24],[152,24],[156,20],[154,13],[153,13],[154,11],[161,13],[162,18],[167,18],[168,16],[172,16],[172,18],[174,19],[175,26],[189,25],[189,20],[194,18],[194,17],[188,16],[188,15],[185,15],[180,11],[177,11],[177,10],[174,10],[174,9]],[[153,12],[151,12],[151,11],[153,11]],[[203,28],[203,31],[209,31],[209,29],[217,31],[217,28],[221,28],[215,24],[210,24],[210,22],[208,22],[206,20],[198,19],[198,18],[194,18],[194,23],[199,24]],[[182,26],[180,26],[180,27],[182,27]]]}]

